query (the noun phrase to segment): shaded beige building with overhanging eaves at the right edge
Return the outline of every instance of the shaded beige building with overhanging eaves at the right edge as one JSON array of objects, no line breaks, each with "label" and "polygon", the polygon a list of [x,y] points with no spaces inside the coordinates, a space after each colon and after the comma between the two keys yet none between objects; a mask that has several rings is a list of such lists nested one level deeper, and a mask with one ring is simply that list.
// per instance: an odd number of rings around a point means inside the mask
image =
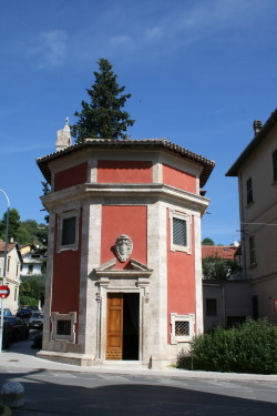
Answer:
[{"label": "shaded beige building with overhanging eaves at the right edge", "polygon": [[244,278],[252,283],[253,316],[277,324],[277,110],[226,176],[238,177]]}]

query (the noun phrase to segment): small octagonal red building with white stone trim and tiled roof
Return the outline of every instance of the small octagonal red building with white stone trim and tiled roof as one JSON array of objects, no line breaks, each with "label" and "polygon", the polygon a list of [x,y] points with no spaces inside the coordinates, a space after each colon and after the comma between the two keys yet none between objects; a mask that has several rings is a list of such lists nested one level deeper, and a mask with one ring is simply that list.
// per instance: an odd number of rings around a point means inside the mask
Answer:
[{"label": "small octagonal red building with white stone trim and tiled roof", "polygon": [[165,139],[86,139],[37,160],[51,185],[43,358],[168,365],[203,332],[202,187],[214,162]]}]

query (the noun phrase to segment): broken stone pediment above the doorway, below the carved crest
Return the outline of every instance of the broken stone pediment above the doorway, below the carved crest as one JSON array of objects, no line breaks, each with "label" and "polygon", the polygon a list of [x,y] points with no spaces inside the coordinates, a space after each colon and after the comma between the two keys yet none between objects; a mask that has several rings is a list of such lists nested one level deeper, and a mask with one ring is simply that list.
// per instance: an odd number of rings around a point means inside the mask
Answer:
[{"label": "broken stone pediment above the doorway, below the carved crest", "polygon": [[101,264],[99,267],[93,270],[93,274],[96,277],[150,277],[153,270],[148,268],[145,264],[137,262],[134,258],[130,260],[132,268],[113,270],[116,260],[112,258],[109,262]]}]

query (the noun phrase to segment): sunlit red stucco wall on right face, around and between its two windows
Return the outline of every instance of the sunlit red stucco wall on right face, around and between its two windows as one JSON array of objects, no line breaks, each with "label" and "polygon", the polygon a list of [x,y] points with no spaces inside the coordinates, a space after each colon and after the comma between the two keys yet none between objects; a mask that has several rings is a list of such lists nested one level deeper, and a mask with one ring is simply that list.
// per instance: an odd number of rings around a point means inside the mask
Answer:
[{"label": "sunlit red stucco wall on right face, around and between its two windows", "polygon": [[[167,210],[168,219],[168,210]],[[168,343],[171,313],[186,315],[195,310],[194,219],[191,224],[192,254],[171,251],[171,220],[167,220],[167,318]]]}]

